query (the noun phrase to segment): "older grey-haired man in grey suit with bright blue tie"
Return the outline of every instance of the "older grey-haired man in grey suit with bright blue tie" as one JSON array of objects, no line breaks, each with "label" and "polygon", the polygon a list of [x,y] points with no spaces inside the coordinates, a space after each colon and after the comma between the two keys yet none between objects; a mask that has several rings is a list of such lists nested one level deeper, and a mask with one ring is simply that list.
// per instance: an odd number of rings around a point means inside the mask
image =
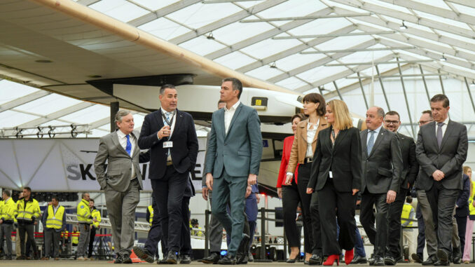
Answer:
[{"label": "older grey-haired man in grey suit with bright blue tie", "polygon": [[117,256],[114,263],[132,263],[130,252],[134,245],[135,207],[139,204],[139,191],[143,189],[139,161],[147,161],[148,153],[140,153],[130,111],[118,111],[115,121],[118,130],[99,141],[94,170],[106,196]]}]

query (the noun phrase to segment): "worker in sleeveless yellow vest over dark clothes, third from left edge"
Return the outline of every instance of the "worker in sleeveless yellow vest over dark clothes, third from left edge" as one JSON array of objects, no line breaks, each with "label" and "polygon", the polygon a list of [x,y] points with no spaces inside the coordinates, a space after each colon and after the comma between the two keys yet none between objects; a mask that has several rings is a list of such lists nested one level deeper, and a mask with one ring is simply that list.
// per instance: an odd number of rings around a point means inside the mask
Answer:
[{"label": "worker in sleeveless yellow vest over dark clothes, third from left edge", "polygon": [[[51,205],[46,208],[43,226],[45,227],[45,256],[41,259],[48,260],[51,257],[57,261],[60,259],[61,232],[66,228],[66,211],[56,196],[51,198]],[[51,245],[53,245],[53,251]]]}]

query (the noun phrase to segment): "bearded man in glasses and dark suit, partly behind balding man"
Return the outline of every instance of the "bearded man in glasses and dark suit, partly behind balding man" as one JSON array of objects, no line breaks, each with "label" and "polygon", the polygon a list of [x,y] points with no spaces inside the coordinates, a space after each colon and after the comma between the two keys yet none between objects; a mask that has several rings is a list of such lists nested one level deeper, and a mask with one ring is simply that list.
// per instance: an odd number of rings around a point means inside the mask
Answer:
[{"label": "bearded man in glasses and dark suit, partly behind balding man", "polygon": [[415,158],[415,142],[412,137],[402,135],[397,132],[401,120],[399,113],[396,111],[389,111],[385,115],[385,128],[391,132],[396,133],[399,139],[399,147],[401,148],[402,170],[401,170],[401,184],[396,200],[390,205],[388,227],[389,233],[387,235],[387,248],[385,263],[386,265],[394,265],[402,259],[401,246],[401,213],[408,190],[414,184],[415,177],[419,172],[419,163]]}]

